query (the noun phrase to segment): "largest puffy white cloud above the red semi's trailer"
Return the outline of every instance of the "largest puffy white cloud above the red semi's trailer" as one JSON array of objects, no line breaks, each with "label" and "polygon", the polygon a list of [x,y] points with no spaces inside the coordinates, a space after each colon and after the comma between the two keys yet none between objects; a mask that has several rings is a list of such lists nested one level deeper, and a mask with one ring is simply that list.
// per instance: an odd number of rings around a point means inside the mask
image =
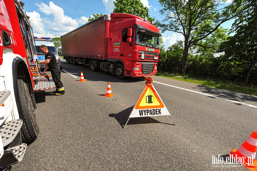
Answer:
[{"label": "largest puffy white cloud above the red semi's trailer", "polygon": [[[53,2],[49,2],[49,6],[45,3],[36,4],[39,7],[39,11],[42,13],[45,13],[46,15],[52,15],[53,21],[48,18],[40,19],[40,15],[38,18],[40,21],[37,23],[32,24],[32,26],[38,27],[37,24],[40,24],[42,28],[46,28],[49,31],[53,31],[54,36],[61,36],[69,31],[72,31],[76,29],[79,25],[78,21],[76,19],[72,19],[71,17],[68,17],[67,15],[64,15],[64,11],[61,7],[55,5]],[[32,22],[32,19],[30,19]],[[42,34],[42,32],[38,32],[37,29],[33,29],[34,34]],[[51,37],[52,38],[52,37]]]}]

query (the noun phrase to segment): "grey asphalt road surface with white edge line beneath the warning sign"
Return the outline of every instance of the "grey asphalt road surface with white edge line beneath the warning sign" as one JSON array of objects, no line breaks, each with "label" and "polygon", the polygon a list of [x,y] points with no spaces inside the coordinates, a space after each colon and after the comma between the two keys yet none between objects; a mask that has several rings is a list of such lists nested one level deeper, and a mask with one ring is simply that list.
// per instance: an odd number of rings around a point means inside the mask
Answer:
[{"label": "grey asphalt road surface with white edge line beneath the warning sign", "polygon": [[[130,118],[123,128],[144,78],[65,61],[62,69],[65,94],[35,92],[39,137],[9,170],[248,170],[226,157],[257,131],[256,96],[152,76],[171,115]],[[218,155],[224,163],[212,164]]]}]

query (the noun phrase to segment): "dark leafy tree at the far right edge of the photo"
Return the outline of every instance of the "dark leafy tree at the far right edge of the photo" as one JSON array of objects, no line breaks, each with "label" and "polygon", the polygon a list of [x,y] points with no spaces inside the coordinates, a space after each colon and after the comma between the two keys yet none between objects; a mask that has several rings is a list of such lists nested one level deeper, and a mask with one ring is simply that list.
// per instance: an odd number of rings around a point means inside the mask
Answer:
[{"label": "dark leafy tree at the far right edge of the photo", "polygon": [[250,11],[246,15],[241,15],[233,23],[232,31],[236,34],[228,38],[220,46],[220,51],[224,52],[227,60],[240,64],[242,74],[245,75],[244,83],[250,79],[250,75],[257,61],[257,7],[256,1],[252,4]]}]

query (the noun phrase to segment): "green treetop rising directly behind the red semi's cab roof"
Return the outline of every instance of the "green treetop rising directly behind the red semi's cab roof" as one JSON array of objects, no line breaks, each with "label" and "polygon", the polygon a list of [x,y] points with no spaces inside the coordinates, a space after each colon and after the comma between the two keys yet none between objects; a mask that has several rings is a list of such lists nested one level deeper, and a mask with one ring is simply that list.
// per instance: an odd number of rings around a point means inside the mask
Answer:
[{"label": "green treetop rising directly behind the red semi's cab roof", "polygon": [[132,14],[138,17],[147,17],[148,21],[152,21],[149,16],[149,9],[144,7],[140,0],[116,0],[114,3],[114,13]]}]

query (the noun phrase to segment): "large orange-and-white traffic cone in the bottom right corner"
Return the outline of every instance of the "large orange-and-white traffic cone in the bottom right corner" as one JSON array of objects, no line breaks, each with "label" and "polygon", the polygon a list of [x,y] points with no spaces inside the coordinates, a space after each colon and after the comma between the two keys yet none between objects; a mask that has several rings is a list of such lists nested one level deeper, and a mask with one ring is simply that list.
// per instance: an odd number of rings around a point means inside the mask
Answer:
[{"label": "large orange-and-white traffic cone in the bottom right corner", "polygon": [[249,138],[238,148],[234,149],[229,154],[232,160],[238,164],[248,168],[251,171],[256,171],[257,161],[255,160],[257,149],[257,131],[254,131]]}]

